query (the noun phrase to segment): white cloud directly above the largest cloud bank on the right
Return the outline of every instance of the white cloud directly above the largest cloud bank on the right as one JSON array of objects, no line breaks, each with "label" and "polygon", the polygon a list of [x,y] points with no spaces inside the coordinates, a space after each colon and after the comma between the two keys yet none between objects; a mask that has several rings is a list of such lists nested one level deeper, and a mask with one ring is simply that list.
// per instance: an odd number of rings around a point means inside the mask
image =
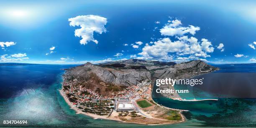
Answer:
[{"label": "white cloud directly above the largest cloud bank on the right", "polygon": [[171,23],[167,23],[163,28],[160,29],[160,33],[163,36],[183,36],[186,33],[195,35],[196,31],[199,31],[199,27],[189,25],[189,27],[182,27],[180,20],[172,20]]}]

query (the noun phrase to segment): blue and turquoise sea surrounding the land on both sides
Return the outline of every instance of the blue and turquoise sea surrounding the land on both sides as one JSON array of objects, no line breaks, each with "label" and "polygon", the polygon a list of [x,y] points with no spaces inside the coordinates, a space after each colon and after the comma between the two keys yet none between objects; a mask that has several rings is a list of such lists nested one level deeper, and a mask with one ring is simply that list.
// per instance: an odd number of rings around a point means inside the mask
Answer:
[{"label": "blue and turquoise sea surrounding the land on both sides", "polygon": [[[255,92],[256,64],[219,64],[219,71],[197,76],[204,85],[188,87],[191,93],[184,99],[215,98],[204,101],[178,101],[155,93],[155,102],[182,110],[184,123],[141,125],[113,120],[93,119],[76,114],[59,94],[63,69],[77,65],[0,66],[0,127],[23,128],[197,128],[256,127],[256,98],[239,95],[245,87]],[[238,79],[239,78],[239,79]],[[242,83],[242,84],[241,84]],[[176,85],[175,85],[176,86]],[[225,87],[223,87],[225,86]],[[179,87],[177,85],[177,87]],[[176,87],[176,88],[177,88]],[[233,89],[236,88],[236,90]],[[216,89],[217,88],[217,89]],[[221,90],[220,92],[216,90]],[[228,95],[223,93],[226,90]],[[232,93],[236,92],[236,93]],[[214,95],[217,93],[218,95]],[[224,96],[223,96],[224,95]],[[205,96],[205,97],[204,97]],[[248,98],[248,97],[249,98]],[[4,120],[27,120],[23,125],[6,125]]]}]

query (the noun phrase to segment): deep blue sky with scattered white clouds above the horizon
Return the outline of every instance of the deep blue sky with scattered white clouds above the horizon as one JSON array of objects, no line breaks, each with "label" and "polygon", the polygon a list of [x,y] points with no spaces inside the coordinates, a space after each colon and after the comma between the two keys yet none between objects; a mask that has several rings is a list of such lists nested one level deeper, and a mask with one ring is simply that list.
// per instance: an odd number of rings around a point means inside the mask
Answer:
[{"label": "deep blue sky with scattered white clouds above the horizon", "polygon": [[256,1],[0,2],[0,62],[256,63]]}]

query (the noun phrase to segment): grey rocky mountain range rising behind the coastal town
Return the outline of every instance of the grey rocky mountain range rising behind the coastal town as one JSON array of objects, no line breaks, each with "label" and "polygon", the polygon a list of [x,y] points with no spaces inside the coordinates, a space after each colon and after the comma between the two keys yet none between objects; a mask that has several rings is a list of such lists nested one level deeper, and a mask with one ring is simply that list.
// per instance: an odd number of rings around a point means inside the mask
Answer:
[{"label": "grey rocky mountain range rising behind the coastal town", "polygon": [[[101,95],[111,95],[122,88],[137,85],[146,79],[165,79],[166,77],[190,78],[213,72],[212,67],[200,60],[180,64],[141,59],[128,59],[103,64],[86,64],[67,69],[65,78],[79,81],[79,86],[97,90]],[[105,91],[108,90],[108,91]]]}]

